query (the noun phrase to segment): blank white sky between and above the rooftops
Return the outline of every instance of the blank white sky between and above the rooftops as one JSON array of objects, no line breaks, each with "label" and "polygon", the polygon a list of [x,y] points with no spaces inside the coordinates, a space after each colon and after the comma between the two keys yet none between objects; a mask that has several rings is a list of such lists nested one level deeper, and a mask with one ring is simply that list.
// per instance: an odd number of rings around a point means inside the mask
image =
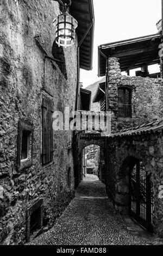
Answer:
[{"label": "blank white sky between and above the rooftops", "polygon": [[[161,19],[161,0],[93,0],[95,38],[93,70],[80,69],[83,87],[101,80],[97,76],[97,47],[109,42],[157,33],[156,22]],[[159,65],[149,66],[149,73],[159,72]],[[134,75],[130,71],[130,75]]]}]

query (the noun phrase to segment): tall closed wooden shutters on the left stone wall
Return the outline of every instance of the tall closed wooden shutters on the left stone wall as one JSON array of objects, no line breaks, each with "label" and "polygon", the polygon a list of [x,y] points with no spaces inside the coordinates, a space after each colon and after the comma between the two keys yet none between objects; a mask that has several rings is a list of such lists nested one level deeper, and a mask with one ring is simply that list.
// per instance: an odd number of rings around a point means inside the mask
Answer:
[{"label": "tall closed wooden shutters on the left stone wall", "polygon": [[42,164],[53,161],[53,101],[43,98],[42,101]]}]

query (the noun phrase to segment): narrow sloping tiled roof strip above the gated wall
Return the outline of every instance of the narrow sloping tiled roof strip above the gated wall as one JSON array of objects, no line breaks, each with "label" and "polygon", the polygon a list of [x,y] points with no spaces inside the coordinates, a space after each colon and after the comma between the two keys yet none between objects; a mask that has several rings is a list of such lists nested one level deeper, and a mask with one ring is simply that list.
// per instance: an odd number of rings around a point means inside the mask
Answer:
[{"label": "narrow sloping tiled roof strip above the gated wall", "polygon": [[155,133],[156,131],[162,131],[162,130],[163,130],[163,120],[131,127],[129,129],[125,129],[117,133],[112,133],[107,137],[114,138],[114,137],[124,137],[124,136],[135,136],[135,135]]}]

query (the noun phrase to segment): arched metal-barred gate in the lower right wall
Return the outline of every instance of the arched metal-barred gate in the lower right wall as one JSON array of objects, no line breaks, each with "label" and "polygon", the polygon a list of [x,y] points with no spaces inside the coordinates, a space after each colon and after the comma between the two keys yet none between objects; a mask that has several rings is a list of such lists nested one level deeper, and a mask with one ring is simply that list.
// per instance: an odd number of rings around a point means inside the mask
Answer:
[{"label": "arched metal-barred gate in the lower right wall", "polygon": [[153,184],[141,162],[130,172],[130,216],[149,231],[153,231]]}]

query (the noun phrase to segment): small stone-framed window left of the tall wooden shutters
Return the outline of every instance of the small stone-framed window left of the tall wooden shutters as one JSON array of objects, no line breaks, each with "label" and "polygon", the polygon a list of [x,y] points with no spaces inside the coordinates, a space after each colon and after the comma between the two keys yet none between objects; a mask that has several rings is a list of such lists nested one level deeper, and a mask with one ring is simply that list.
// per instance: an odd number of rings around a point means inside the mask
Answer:
[{"label": "small stone-framed window left of the tall wooden shutters", "polygon": [[32,166],[33,162],[33,125],[27,121],[18,123],[18,169]]}]

